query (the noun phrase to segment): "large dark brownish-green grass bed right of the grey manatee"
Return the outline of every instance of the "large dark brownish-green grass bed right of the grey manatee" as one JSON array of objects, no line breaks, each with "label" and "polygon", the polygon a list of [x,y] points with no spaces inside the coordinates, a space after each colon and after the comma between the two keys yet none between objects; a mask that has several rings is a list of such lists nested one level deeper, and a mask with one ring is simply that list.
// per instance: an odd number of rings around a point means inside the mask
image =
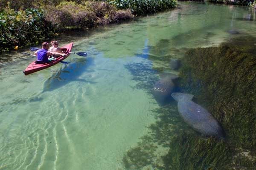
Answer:
[{"label": "large dark brownish-green grass bed right of the grey manatee", "polygon": [[[219,47],[191,49],[180,72],[182,91],[196,94],[199,104],[224,127],[230,149],[236,153],[233,167],[252,168],[256,160],[255,43],[255,37],[244,36]],[[238,148],[249,150],[251,159],[240,157]]]}]

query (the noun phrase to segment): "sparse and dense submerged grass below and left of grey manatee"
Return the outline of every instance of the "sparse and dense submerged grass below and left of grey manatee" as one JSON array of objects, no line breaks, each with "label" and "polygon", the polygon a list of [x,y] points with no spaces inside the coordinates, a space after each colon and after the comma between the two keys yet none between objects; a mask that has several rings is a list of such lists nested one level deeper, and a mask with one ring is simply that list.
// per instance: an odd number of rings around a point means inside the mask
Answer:
[{"label": "sparse and dense submerged grass below and left of grey manatee", "polygon": [[192,130],[183,122],[176,104],[153,112],[157,122],[148,127],[150,133],[123,157],[127,169],[150,166],[157,170],[226,170],[230,167],[232,152],[229,144]]}]

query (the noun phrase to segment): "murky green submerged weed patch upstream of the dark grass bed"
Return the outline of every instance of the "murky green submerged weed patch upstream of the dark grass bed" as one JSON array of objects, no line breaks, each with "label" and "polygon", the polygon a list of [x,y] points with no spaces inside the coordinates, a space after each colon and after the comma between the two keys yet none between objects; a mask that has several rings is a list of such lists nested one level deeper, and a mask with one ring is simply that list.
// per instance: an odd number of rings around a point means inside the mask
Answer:
[{"label": "murky green submerged weed patch upstream of the dark grass bed", "polygon": [[[178,70],[180,68],[178,59],[183,57],[189,49],[188,46],[211,45],[211,39],[216,35],[214,30],[218,28],[218,22],[216,20],[209,26],[185,31],[174,37],[166,37],[158,41],[148,50],[152,54],[148,56],[148,59],[152,61],[153,68],[159,72]],[[204,36],[201,36],[202,33]]]}]

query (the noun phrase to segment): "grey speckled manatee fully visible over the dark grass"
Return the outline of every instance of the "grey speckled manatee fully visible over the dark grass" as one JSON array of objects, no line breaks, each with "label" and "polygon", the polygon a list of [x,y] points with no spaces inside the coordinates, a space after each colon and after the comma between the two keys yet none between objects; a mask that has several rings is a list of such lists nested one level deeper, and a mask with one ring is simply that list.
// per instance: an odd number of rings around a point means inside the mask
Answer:
[{"label": "grey speckled manatee fully visible over the dark grass", "polygon": [[205,108],[192,101],[192,94],[172,93],[172,97],[178,102],[180,116],[194,130],[205,136],[224,138],[219,122]]}]

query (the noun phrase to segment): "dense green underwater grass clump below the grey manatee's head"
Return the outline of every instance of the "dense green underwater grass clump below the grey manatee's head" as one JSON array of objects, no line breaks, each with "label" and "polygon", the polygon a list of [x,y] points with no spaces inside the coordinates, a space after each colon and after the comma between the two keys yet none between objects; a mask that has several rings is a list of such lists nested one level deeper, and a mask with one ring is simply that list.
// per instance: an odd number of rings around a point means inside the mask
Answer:
[{"label": "dense green underwater grass clump below the grey manatee's head", "polygon": [[170,143],[163,157],[165,170],[227,170],[232,152],[223,141],[182,133]]}]

